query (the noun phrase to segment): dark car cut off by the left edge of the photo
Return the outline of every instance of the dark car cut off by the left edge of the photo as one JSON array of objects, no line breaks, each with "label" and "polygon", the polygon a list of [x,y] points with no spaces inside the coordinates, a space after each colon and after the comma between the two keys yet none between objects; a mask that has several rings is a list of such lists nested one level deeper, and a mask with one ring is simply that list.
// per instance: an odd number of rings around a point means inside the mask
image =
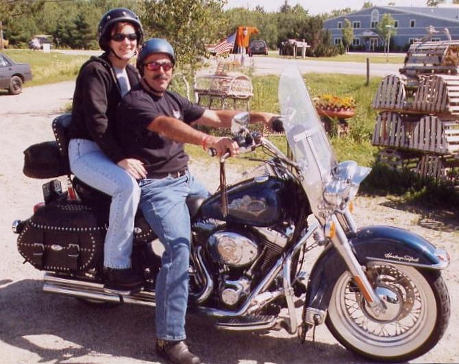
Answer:
[{"label": "dark car cut off by the left edge of the photo", "polygon": [[0,53],[0,88],[7,88],[11,95],[23,90],[23,83],[32,80],[32,71],[27,63],[16,63]]}]

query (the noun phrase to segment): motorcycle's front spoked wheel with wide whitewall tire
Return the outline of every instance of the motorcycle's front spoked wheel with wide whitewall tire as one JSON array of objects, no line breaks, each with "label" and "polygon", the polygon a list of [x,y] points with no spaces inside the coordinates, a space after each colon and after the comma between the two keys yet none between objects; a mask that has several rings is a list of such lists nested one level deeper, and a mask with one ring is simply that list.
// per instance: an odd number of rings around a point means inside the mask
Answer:
[{"label": "motorcycle's front spoked wheel with wide whitewall tire", "polygon": [[391,263],[369,263],[367,276],[386,311],[375,315],[349,272],[335,283],[326,324],[347,349],[377,361],[408,361],[438,343],[450,302],[440,274]]}]

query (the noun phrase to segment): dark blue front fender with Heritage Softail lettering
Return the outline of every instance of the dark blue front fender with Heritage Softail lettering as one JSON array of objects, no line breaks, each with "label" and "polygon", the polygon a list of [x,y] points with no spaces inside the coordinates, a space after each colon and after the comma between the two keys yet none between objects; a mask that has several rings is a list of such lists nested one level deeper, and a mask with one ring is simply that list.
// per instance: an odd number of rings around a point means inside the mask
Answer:
[{"label": "dark blue front fender with Heritage Softail lettering", "polygon": [[[391,226],[367,226],[348,236],[361,265],[377,260],[425,269],[445,269],[449,256],[427,240],[407,230]],[[332,297],[334,282],[347,270],[343,258],[329,245],[312,267],[306,307],[325,311]]]}]

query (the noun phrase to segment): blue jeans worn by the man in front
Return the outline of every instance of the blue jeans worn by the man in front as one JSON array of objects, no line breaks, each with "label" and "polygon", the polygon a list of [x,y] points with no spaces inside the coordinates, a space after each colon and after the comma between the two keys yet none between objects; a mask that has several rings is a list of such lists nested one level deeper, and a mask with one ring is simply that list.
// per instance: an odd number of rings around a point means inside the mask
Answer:
[{"label": "blue jeans worn by the man in front", "polygon": [[162,340],[184,340],[190,264],[190,213],[186,197],[208,197],[193,175],[139,182],[140,208],[164,245],[162,267],[156,278],[156,335]]}]

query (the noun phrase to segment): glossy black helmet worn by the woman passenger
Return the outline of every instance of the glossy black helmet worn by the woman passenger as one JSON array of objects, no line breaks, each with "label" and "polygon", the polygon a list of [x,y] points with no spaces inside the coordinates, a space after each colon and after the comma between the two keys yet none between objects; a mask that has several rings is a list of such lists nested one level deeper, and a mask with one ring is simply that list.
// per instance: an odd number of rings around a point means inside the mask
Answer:
[{"label": "glossy black helmet worn by the woman passenger", "polygon": [[136,13],[126,8],[115,8],[108,10],[99,21],[99,27],[97,28],[97,36],[99,38],[99,45],[104,51],[108,51],[108,42],[110,41],[110,32],[112,25],[119,23],[120,21],[127,21],[134,25],[137,34],[137,44],[140,45],[143,40],[143,29],[140,20]]}]

